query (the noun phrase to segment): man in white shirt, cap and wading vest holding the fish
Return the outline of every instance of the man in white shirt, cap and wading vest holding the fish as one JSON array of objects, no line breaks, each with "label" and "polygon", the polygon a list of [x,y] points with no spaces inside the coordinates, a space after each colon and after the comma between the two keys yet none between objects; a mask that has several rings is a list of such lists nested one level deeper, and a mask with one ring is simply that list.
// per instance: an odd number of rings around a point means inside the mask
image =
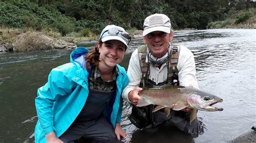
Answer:
[{"label": "man in white shirt, cap and wading vest holding the fish", "polygon": [[[138,108],[139,91],[142,88],[163,88],[166,85],[182,85],[198,88],[194,56],[184,46],[172,45],[173,31],[169,17],[154,14],[144,20],[143,41],[131,56],[127,75],[129,84],[122,97],[133,104],[129,117],[138,128],[157,128],[170,121],[181,131],[199,134],[204,132],[203,123],[197,118],[190,123],[190,109],[171,111],[169,116],[163,110],[153,112],[153,105]],[[175,106],[175,104],[173,105]]]}]

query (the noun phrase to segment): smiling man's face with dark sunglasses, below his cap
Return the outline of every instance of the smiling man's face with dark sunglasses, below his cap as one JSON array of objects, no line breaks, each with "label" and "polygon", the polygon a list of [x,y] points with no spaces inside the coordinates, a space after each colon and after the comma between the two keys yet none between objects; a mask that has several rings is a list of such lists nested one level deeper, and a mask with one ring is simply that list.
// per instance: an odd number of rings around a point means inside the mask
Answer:
[{"label": "smiling man's face with dark sunglasses, below his cap", "polygon": [[172,41],[172,38],[172,32],[169,34],[162,31],[154,31],[146,34],[143,37],[143,41],[154,57],[161,58],[167,53],[169,42]]}]

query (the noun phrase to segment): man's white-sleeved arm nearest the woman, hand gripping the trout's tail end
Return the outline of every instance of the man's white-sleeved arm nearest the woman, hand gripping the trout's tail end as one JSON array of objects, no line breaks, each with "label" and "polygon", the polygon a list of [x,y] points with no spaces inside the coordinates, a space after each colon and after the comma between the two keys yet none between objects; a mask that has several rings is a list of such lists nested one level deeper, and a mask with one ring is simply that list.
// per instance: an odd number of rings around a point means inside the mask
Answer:
[{"label": "man's white-sleeved arm nearest the woman, hand gripping the trout's tail end", "polygon": [[138,88],[142,78],[142,71],[139,67],[138,49],[132,53],[127,69],[127,76],[129,77],[129,84],[123,90],[122,97],[127,102],[136,104],[136,101],[140,98],[138,92],[142,90]]}]

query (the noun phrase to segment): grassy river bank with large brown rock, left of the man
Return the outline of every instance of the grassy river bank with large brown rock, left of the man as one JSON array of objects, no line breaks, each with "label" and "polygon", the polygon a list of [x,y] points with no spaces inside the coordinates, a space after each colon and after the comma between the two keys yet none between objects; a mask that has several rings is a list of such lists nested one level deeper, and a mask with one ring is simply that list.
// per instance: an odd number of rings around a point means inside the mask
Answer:
[{"label": "grassy river bank with large brown rock, left of the man", "polygon": [[[132,38],[142,38],[142,30],[128,30]],[[99,35],[62,37],[56,31],[33,31],[17,28],[0,28],[0,52],[30,52],[44,49],[75,48],[94,45]]]}]

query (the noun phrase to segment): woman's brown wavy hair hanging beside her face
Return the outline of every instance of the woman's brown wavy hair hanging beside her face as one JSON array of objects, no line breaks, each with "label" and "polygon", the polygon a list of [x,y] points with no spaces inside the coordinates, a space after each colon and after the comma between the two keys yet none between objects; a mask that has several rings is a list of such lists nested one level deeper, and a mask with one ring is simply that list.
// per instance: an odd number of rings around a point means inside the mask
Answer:
[{"label": "woman's brown wavy hair hanging beside her face", "polygon": [[103,42],[99,41],[98,44],[96,44],[94,49],[91,49],[85,57],[85,62],[86,62],[86,69],[89,71],[90,66],[92,67],[97,67],[99,65],[99,47],[102,46]]}]

